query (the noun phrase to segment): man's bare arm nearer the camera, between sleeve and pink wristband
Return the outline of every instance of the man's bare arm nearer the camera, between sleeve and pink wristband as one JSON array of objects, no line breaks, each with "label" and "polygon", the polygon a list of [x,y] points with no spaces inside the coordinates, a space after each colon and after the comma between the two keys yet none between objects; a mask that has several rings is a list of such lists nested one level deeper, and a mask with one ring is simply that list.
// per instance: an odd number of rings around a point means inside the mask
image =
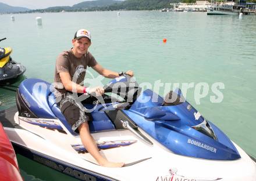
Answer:
[{"label": "man's bare arm nearer the camera, between sleeve and pink wristband", "polygon": [[69,73],[59,73],[59,77],[61,77],[61,81],[66,91],[83,93],[84,87],[72,82]]}]

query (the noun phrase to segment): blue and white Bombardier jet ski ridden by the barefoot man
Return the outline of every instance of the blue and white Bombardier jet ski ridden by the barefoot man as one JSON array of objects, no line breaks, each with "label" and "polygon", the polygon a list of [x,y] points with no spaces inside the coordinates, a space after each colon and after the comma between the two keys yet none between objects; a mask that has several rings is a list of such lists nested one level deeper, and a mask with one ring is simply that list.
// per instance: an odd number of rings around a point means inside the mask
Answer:
[{"label": "blue and white Bombardier jet ski ridden by the barefoot man", "polygon": [[97,165],[59,110],[53,86],[34,78],[20,84],[18,111],[5,126],[17,153],[80,180],[256,180],[255,160],[179,89],[163,98],[128,75],[104,89],[108,95],[83,106],[93,110],[100,153],[123,168]]}]

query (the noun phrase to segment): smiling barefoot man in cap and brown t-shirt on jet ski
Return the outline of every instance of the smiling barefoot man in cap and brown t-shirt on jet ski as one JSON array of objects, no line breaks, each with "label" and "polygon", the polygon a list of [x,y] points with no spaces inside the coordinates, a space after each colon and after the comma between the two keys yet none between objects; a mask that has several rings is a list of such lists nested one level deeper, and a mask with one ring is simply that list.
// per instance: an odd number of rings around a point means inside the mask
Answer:
[{"label": "smiling barefoot man in cap and brown t-shirt on jet ski", "polygon": [[[101,96],[104,89],[100,86],[89,88],[83,86],[84,77],[86,75],[87,66],[92,67],[97,73],[106,78],[116,78],[122,73],[103,68],[94,59],[93,55],[88,52],[91,45],[91,34],[88,30],[81,29],[74,34],[72,39],[73,48],[62,52],[56,59],[54,81],[61,83],[62,88],[56,87],[56,100],[60,99],[59,106],[62,114],[67,122],[72,126],[73,131],[79,132],[81,142],[86,150],[95,158],[101,166],[106,167],[122,167],[125,163],[109,162],[98,151],[97,144],[90,135],[87,121],[90,121],[90,113],[86,112],[86,108],[76,101],[73,92],[78,95],[89,94]],[[127,71],[126,74],[133,76],[133,71]],[[90,103],[90,97],[83,103]]]}]

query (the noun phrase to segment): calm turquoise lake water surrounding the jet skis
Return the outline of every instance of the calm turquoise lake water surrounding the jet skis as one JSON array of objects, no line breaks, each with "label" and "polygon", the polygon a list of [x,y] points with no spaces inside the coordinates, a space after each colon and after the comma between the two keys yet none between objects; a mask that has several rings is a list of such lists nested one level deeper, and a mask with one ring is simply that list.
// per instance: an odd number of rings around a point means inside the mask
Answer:
[{"label": "calm turquoise lake water surrounding the jet skis", "polygon": [[[0,46],[13,48],[13,59],[27,68],[26,78],[52,82],[56,56],[72,47],[76,30],[87,28],[92,34],[89,50],[99,64],[115,71],[133,70],[138,83],[193,84],[187,100],[256,157],[256,16],[157,11],[14,16],[11,21],[10,15],[0,15],[0,38],[8,38]],[[42,26],[37,26],[37,16]],[[216,82],[225,86],[219,89],[220,103],[211,102]],[[195,86],[200,85],[209,86],[209,92],[199,104],[200,89]],[[160,88],[161,96],[164,92]],[[0,110],[14,106],[15,92],[0,87],[0,102]],[[17,158],[25,180],[72,180],[21,155]]]}]

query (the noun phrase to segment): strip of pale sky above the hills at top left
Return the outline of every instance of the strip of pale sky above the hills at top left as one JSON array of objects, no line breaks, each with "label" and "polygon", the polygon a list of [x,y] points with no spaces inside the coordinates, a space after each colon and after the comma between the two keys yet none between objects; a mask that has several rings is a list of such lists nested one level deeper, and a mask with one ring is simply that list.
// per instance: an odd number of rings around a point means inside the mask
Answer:
[{"label": "strip of pale sky above the hills at top left", "polygon": [[93,0],[0,0],[10,6],[20,6],[29,9],[44,9],[51,6],[73,6],[76,3]]}]

